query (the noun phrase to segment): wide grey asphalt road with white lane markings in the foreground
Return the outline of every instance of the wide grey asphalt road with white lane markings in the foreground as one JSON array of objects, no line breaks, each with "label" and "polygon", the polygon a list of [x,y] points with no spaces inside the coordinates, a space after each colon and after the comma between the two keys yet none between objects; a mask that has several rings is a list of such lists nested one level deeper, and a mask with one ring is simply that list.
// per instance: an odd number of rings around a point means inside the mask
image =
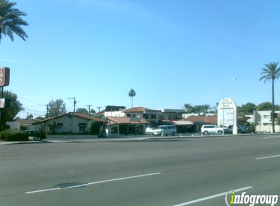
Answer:
[{"label": "wide grey asphalt road with white lane markings in the foreground", "polygon": [[280,195],[280,134],[0,145],[0,206],[225,206],[231,188]]}]

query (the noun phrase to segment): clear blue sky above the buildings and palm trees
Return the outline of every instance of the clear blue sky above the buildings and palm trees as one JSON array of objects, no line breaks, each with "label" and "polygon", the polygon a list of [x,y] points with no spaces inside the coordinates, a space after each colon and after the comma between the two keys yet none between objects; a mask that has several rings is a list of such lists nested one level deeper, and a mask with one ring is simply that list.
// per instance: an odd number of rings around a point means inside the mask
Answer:
[{"label": "clear blue sky above the buildings and palm trees", "polygon": [[[271,101],[259,82],[280,61],[279,0],[18,0],[29,38],[0,43],[10,86],[35,116],[51,99],[78,107],[182,108],[226,97]],[[280,103],[280,81],[275,85]]]}]

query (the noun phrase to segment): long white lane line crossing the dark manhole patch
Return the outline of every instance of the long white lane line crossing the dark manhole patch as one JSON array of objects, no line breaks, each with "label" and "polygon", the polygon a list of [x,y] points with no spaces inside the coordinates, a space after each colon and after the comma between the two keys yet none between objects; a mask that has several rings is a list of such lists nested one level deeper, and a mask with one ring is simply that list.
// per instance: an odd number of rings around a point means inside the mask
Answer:
[{"label": "long white lane line crossing the dark manhole patch", "polygon": [[159,174],[161,174],[161,172],[155,172],[155,173],[144,174],[144,175],[136,175],[136,176],[130,176],[130,177],[122,177],[122,178],[116,178],[116,179],[110,179],[110,180],[103,180],[103,181],[98,181],[98,182],[86,183],[86,184],[83,184],[83,185],[68,186],[68,187],[65,187],[65,188],[58,187],[58,188],[50,188],[50,189],[40,189],[40,190],[25,192],[25,194],[46,192],[46,191],[58,190],[58,189],[71,189],[71,188],[76,188],[76,187],[83,187],[83,186],[88,186],[88,185],[107,183],[107,182],[118,181],[118,180],[127,180],[127,179],[132,179],[132,178],[146,177],[146,176],[159,175]]}]

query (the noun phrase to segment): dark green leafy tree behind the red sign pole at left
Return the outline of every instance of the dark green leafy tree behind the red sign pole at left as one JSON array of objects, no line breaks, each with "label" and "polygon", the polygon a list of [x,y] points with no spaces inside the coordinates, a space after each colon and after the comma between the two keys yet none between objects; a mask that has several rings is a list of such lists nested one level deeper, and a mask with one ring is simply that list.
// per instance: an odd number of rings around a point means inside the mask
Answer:
[{"label": "dark green leafy tree behind the red sign pole at left", "polygon": [[22,103],[18,101],[18,96],[10,91],[5,90],[3,98],[5,98],[5,101],[8,100],[10,105],[6,105],[1,109],[1,123],[11,122],[23,110]]}]

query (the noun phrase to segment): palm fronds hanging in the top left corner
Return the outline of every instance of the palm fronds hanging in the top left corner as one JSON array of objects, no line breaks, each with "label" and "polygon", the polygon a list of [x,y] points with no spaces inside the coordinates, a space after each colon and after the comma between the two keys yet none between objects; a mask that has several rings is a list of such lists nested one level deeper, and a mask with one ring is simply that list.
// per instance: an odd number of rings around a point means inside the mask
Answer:
[{"label": "palm fronds hanging in the top left corner", "polygon": [[22,20],[22,16],[27,14],[19,9],[13,8],[17,5],[16,2],[9,2],[9,0],[0,0],[0,41],[2,35],[8,36],[14,41],[14,34],[26,40],[28,38],[21,26],[28,26],[26,21]]}]

